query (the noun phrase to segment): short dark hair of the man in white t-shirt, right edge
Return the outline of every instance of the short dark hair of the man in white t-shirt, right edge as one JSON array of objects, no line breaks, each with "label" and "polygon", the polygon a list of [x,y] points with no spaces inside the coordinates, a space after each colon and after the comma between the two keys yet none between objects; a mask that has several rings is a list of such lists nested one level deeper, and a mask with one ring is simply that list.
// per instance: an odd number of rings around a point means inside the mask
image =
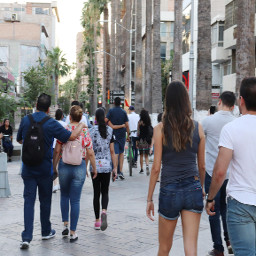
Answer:
[{"label": "short dark hair of the man in white t-shirt, right edge", "polygon": [[240,96],[243,97],[247,110],[256,111],[256,77],[243,79],[240,87]]}]

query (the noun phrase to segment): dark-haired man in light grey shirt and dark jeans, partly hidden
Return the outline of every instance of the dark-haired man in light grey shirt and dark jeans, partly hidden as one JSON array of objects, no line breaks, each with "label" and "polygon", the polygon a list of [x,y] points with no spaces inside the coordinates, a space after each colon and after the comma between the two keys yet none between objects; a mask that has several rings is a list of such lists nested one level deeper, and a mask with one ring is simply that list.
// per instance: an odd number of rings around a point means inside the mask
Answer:
[{"label": "dark-haired man in light grey shirt and dark jeans, partly hidden", "polygon": [[[209,193],[209,188],[212,179],[213,167],[218,156],[218,144],[220,138],[220,132],[222,128],[229,122],[234,121],[236,118],[232,114],[234,105],[236,102],[236,96],[233,92],[225,91],[220,95],[218,102],[218,112],[213,115],[207,116],[202,121],[202,126],[206,136],[205,143],[205,192]],[[226,223],[226,187],[228,183],[228,177],[226,177],[223,185],[219,192],[214,198],[215,201],[215,212],[214,216],[209,216],[209,222],[211,227],[213,249],[208,253],[209,256],[224,256],[224,247],[221,238],[221,222],[224,231],[224,240],[228,248],[228,252],[232,254],[232,248],[230,246],[227,223]]]}]

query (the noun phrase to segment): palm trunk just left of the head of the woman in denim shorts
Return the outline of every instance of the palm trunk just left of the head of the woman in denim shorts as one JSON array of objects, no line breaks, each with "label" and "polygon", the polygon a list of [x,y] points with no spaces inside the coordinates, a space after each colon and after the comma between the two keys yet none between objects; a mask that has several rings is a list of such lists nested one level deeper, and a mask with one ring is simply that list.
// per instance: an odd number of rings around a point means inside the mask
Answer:
[{"label": "palm trunk just left of the head of the woman in denim shorts", "polygon": [[163,111],[160,42],[160,0],[154,0],[152,113]]}]

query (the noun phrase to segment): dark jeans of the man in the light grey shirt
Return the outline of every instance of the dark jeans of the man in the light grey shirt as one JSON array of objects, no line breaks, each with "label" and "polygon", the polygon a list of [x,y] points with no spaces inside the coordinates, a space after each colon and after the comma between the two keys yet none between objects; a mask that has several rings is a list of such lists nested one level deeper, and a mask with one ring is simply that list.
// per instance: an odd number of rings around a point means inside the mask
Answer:
[{"label": "dark jeans of the man in the light grey shirt", "polygon": [[[211,180],[212,180],[212,177],[206,172],[205,192],[207,194],[209,193]],[[222,187],[220,188],[218,194],[214,198],[214,200],[215,200],[214,211],[216,212],[216,214],[214,216],[209,216],[213,248],[220,252],[224,251],[224,247],[222,245],[222,239],[221,239],[220,216],[222,219],[222,225],[223,225],[223,230],[224,230],[224,240],[225,241],[229,240],[227,222],[226,222],[226,214],[227,214],[226,187],[227,187],[227,183],[228,183],[228,180],[225,180]]]}]

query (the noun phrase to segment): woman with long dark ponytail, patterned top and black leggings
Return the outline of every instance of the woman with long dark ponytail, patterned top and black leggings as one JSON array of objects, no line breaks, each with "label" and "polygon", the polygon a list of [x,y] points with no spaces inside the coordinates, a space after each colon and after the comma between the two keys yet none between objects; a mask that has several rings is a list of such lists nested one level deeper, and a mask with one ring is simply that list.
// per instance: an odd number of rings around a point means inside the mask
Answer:
[{"label": "woman with long dark ponytail, patterned top and black leggings", "polygon": [[[90,129],[93,142],[93,150],[96,159],[96,168],[98,175],[92,179],[93,183],[93,207],[95,213],[96,230],[106,230],[107,224],[107,207],[108,207],[108,191],[110,176],[112,172],[113,181],[117,177],[117,163],[115,161],[113,129],[105,123],[105,112],[102,108],[98,108],[95,113],[96,125]],[[112,161],[111,161],[112,160]],[[112,162],[114,169],[112,169]],[[100,219],[100,194],[102,196],[102,213]]]}]

